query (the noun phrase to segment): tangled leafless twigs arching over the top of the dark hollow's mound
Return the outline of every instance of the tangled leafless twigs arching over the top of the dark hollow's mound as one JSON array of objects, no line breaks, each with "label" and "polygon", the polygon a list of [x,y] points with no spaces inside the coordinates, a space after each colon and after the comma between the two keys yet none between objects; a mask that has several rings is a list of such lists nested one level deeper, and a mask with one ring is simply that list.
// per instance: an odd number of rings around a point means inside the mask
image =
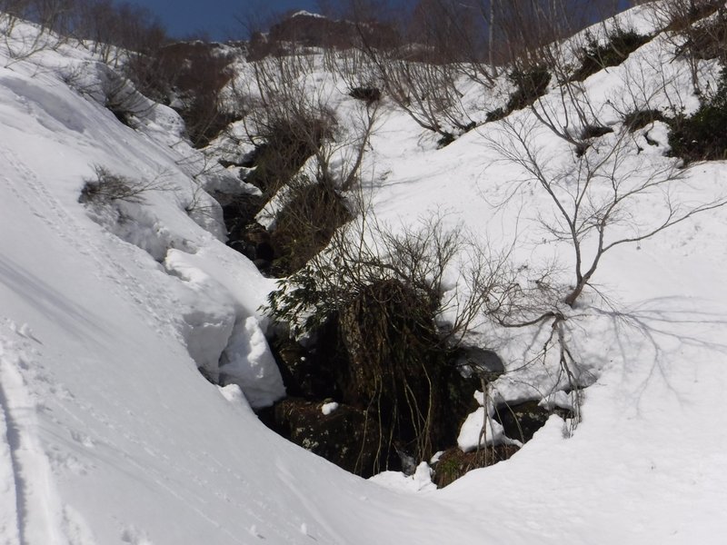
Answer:
[{"label": "tangled leafless twigs arching over the top of the dark hollow's mound", "polygon": [[[460,278],[463,285],[460,291],[445,289],[449,266],[461,253],[469,256]],[[290,323],[295,334],[303,334],[320,327],[367,286],[394,280],[427,301],[431,318],[449,317],[440,342],[456,344],[477,320],[489,292],[493,270],[482,260],[477,246],[460,229],[447,229],[442,216],[396,233],[363,213],[337,230],[326,250],[304,269],[281,282],[271,295],[269,311]]]}]

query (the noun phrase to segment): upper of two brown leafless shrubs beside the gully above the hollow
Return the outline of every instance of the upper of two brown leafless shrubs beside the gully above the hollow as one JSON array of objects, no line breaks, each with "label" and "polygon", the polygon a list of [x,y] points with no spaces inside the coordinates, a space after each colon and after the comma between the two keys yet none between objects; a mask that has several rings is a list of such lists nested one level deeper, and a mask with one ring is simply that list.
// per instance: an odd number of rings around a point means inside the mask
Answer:
[{"label": "upper of two brown leafless shrubs beside the gully above the hollow", "polygon": [[250,107],[244,121],[258,153],[248,182],[268,196],[293,178],[310,157],[319,182],[335,191],[357,183],[373,133],[378,104],[360,104],[345,125],[339,124],[335,94],[313,85],[315,58],[308,54],[267,57],[253,64],[254,86],[241,92]]}]

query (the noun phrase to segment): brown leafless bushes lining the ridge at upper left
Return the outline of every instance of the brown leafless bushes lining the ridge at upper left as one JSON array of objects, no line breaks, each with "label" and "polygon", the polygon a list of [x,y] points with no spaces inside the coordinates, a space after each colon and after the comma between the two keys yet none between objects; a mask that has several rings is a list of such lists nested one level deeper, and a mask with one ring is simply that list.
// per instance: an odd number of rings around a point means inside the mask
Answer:
[{"label": "brown leafless bushes lining the ridge at upper left", "polygon": [[[39,24],[40,35],[18,33],[19,19]],[[173,106],[198,147],[209,144],[237,118],[219,100],[232,76],[228,69],[232,55],[202,42],[173,44],[164,26],[139,5],[113,0],[0,0],[2,35],[13,58],[25,58],[70,38],[80,40],[141,94]],[[13,40],[8,39],[11,35]],[[128,96],[122,98],[108,106],[129,124],[128,113],[134,108],[124,104]]]}]

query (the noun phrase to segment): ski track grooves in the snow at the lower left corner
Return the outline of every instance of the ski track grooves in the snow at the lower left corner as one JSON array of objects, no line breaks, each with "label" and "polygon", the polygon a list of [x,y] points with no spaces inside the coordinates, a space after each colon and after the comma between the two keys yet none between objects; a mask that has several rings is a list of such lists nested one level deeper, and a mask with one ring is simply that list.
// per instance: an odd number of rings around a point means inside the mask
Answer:
[{"label": "ski track grooves in the snow at the lower left corner", "polygon": [[[42,371],[40,344],[27,326],[0,322],[0,545],[97,545],[54,485],[58,471],[84,472],[84,464],[58,447],[46,448],[39,435],[41,400],[71,395]],[[34,381],[47,391],[31,391]]]}]

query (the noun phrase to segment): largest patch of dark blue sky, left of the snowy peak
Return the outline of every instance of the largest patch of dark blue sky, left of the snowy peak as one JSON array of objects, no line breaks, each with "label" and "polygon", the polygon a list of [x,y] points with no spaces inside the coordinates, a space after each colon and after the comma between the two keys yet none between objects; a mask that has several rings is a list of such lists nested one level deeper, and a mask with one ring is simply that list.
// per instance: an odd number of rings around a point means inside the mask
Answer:
[{"label": "largest patch of dark blue sky, left of the snowy peak", "polygon": [[130,0],[159,17],[170,35],[185,37],[200,32],[213,40],[244,38],[243,22],[264,22],[289,9],[315,12],[317,0]]}]

